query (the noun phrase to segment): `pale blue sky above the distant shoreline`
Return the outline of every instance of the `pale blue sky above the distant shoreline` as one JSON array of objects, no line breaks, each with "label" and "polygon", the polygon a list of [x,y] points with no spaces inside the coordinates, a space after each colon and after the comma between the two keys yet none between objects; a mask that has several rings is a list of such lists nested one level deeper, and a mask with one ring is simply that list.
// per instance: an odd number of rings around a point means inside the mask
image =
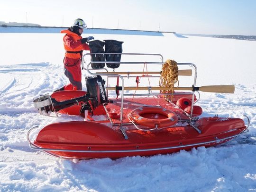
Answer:
[{"label": "pale blue sky above the distant shoreline", "polygon": [[256,0],[0,0],[0,21],[256,35]]}]

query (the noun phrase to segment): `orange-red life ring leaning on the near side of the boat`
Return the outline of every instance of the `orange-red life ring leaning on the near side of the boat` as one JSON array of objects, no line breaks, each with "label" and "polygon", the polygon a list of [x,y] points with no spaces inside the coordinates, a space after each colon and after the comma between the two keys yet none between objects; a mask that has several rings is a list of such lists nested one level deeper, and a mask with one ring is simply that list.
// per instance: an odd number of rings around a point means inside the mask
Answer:
[{"label": "orange-red life ring leaning on the near side of the boat", "polygon": [[[153,118],[149,117],[149,114],[154,115]],[[177,115],[165,108],[160,107],[140,107],[131,111],[128,118],[139,125],[147,127],[170,127],[178,121]]]}]

